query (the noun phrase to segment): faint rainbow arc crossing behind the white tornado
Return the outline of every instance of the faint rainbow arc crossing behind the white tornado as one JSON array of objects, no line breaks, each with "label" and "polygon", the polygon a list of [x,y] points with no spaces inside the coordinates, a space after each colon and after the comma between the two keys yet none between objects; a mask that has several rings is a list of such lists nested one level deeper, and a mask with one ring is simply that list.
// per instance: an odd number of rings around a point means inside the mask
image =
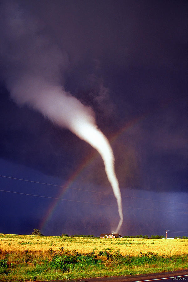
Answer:
[{"label": "faint rainbow arc crossing behind the white tornado", "polygon": [[[148,113],[144,113],[140,117],[137,117],[137,118],[133,119],[132,121],[130,121],[129,123],[126,123],[126,125],[124,127],[122,127],[118,132],[116,132],[113,136],[111,136],[109,138],[110,143],[113,143],[115,140],[117,140],[119,138],[119,136],[124,134],[128,129],[134,127],[134,125],[136,123],[143,120],[147,115],[148,115]],[[58,198],[58,199],[54,200],[53,203],[48,207],[46,215],[45,215],[45,217],[43,218],[43,220],[40,224],[41,232],[44,232],[44,229],[45,229],[47,222],[50,220],[50,218],[52,218],[55,208],[58,206],[59,201],[61,201],[61,200],[59,200],[59,198],[62,198],[64,193],[71,187],[71,185],[78,178],[78,176],[84,171],[85,168],[87,168],[94,161],[94,159],[98,155],[99,155],[98,152],[94,152],[93,154],[90,154],[87,157],[87,159],[84,159],[84,161],[78,166],[78,168],[75,170],[75,172],[69,177],[68,181],[64,185],[62,185],[63,189],[56,196],[56,198]]]}]

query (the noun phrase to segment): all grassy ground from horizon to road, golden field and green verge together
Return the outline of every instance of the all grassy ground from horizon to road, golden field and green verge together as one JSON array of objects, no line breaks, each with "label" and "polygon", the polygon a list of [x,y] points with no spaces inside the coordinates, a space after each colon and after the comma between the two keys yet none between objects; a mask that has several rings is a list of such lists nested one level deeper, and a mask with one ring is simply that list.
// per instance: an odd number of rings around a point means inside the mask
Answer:
[{"label": "all grassy ground from horizon to road, golden field and green verge together", "polygon": [[[188,240],[182,239],[0,234],[0,281],[45,281],[188,269],[187,244]],[[148,248],[150,245],[155,246],[155,252]],[[92,251],[88,251],[89,247]]]}]

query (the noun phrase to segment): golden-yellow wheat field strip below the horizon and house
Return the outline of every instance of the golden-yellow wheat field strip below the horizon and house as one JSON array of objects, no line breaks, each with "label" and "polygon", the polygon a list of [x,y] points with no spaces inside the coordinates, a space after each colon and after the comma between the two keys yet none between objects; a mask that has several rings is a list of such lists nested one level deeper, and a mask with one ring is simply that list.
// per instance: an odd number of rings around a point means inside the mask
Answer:
[{"label": "golden-yellow wheat field strip below the horizon and house", "polygon": [[106,248],[119,250],[122,255],[136,256],[141,253],[158,253],[159,255],[180,255],[188,253],[186,239],[140,239],[140,238],[80,238],[0,234],[0,249],[3,251],[58,251],[76,250],[79,253],[99,252]]}]

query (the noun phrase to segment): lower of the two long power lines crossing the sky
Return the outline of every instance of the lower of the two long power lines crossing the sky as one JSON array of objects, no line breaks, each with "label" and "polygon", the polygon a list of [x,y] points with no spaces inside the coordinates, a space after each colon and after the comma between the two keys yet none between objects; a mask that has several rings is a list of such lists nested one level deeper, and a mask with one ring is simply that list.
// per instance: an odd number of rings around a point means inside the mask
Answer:
[{"label": "lower of the two long power lines crossing the sky", "polygon": [[[55,200],[62,200],[62,201],[71,201],[71,202],[79,202],[79,203],[93,204],[93,205],[100,205],[100,206],[115,206],[115,205],[108,205],[108,204],[100,204],[100,203],[92,203],[92,202],[85,202],[85,201],[77,201],[77,200],[63,199],[63,198],[55,198],[55,197],[48,197],[48,196],[40,196],[40,195],[34,195],[34,194],[26,194],[26,193],[20,193],[20,192],[14,192],[14,191],[7,191],[7,190],[0,190],[0,191],[8,192],[8,193],[21,194],[21,195],[26,195],[26,196],[35,196],[35,197],[41,197],[41,198],[48,198],[48,199],[55,199]],[[115,207],[116,207],[116,206],[115,206]],[[144,209],[144,208],[137,208],[137,207],[131,207],[131,206],[122,206],[122,207],[130,208],[130,209],[137,209],[137,210],[156,211],[156,212],[174,212],[174,211],[163,211],[163,210],[155,210],[155,209]],[[188,212],[175,212],[175,213],[187,214]]]}]

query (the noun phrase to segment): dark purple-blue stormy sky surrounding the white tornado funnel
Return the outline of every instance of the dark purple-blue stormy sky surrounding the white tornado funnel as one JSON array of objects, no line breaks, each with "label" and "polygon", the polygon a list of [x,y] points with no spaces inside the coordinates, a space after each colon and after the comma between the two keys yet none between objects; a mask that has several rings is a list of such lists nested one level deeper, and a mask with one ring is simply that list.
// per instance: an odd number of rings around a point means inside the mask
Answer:
[{"label": "dark purple-blue stormy sky surrounding the white tornado funnel", "polygon": [[[11,82],[24,73],[23,59],[26,66],[28,60],[33,68],[37,65],[38,76],[44,71],[49,76],[59,64],[57,79],[93,108],[97,125],[113,148],[123,196],[119,233],[188,231],[187,1],[20,0],[1,5],[0,175],[66,185],[95,154],[68,129],[11,96]],[[24,27],[10,31],[8,23],[17,27],[20,11],[27,18]],[[25,40],[19,37],[22,28]],[[61,60],[56,48],[45,60],[36,54],[32,29],[48,39],[48,45],[58,46]],[[45,45],[43,49],[45,53]],[[99,236],[111,232],[119,220],[97,153],[69,182],[80,190],[62,194],[60,187],[5,177],[0,183],[1,233],[29,234],[42,228],[45,235]],[[61,195],[74,201],[59,201],[48,217],[54,199],[24,194]]]}]

